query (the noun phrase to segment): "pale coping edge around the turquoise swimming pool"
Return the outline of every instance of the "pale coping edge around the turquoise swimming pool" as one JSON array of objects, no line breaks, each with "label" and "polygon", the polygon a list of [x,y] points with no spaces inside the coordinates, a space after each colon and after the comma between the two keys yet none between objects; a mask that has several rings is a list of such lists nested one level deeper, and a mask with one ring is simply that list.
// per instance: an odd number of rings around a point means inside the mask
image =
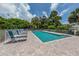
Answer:
[{"label": "pale coping edge around the turquoise swimming pool", "polygon": [[[43,30],[43,31],[44,31],[44,32],[48,32],[48,33],[59,34],[59,35],[68,35],[69,37],[65,37],[65,38],[61,38],[61,39],[59,39],[59,40],[53,40],[53,41],[49,41],[49,42],[42,42],[42,41],[31,31],[31,33],[34,35],[34,37],[35,37],[36,39],[38,39],[39,42],[42,43],[42,44],[49,44],[49,43],[57,42],[57,41],[64,40],[64,39],[67,39],[67,38],[71,38],[72,36],[74,36],[74,35],[69,35],[69,34],[64,34],[64,33],[50,32],[50,31],[45,31],[45,30]],[[76,37],[76,36],[75,36],[75,37]]]}]

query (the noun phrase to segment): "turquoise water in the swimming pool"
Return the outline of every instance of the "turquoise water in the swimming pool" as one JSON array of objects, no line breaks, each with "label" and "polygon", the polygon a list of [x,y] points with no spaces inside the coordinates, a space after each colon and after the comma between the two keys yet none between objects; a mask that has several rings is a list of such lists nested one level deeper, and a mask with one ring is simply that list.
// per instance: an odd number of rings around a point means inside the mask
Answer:
[{"label": "turquoise water in the swimming pool", "polygon": [[64,35],[54,34],[54,33],[48,33],[43,31],[33,31],[33,33],[42,41],[42,42],[48,42],[53,41],[61,38],[65,38]]}]

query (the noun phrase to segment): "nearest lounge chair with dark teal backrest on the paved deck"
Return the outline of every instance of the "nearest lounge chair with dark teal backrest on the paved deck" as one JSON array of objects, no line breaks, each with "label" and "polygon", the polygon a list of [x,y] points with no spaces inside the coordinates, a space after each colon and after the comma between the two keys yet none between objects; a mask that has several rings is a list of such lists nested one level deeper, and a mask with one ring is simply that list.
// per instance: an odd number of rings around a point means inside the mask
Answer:
[{"label": "nearest lounge chair with dark teal backrest on the paved deck", "polygon": [[15,36],[12,32],[12,30],[8,31],[8,34],[11,38],[11,40],[6,40],[4,43],[9,43],[9,42],[17,42],[17,41],[25,41],[27,37],[23,37],[20,35]]}]

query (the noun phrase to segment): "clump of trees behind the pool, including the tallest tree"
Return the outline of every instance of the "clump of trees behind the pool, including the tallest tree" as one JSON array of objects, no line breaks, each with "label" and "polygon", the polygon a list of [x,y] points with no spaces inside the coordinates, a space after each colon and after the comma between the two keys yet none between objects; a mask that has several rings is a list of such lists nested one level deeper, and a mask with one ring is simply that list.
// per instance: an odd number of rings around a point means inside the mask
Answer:
[{"label": "clump of trees behind the pool, including the tallest tree", "polygon": [[31,23],[33,28],[47,29],[53,26],[57,28],[57,26],[61,25],[60,20],[61,16],[58,15],[58,12],[52,11],[48,18],[46,16],[34,17]]}]

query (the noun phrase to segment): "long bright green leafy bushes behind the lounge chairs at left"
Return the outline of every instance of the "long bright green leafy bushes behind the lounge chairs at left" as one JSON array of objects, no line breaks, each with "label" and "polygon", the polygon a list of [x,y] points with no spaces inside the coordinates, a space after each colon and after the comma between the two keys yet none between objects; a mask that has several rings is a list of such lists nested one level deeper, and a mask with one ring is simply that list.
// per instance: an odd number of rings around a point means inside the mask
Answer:
[{"label": "long bright green leafy bushes behind the lounge chairs at left", "polygon": [[0,29],[20,29],[27,28],[30,26],[30,23],[26,20],[19,18],[3,18],[0,17]]}]

